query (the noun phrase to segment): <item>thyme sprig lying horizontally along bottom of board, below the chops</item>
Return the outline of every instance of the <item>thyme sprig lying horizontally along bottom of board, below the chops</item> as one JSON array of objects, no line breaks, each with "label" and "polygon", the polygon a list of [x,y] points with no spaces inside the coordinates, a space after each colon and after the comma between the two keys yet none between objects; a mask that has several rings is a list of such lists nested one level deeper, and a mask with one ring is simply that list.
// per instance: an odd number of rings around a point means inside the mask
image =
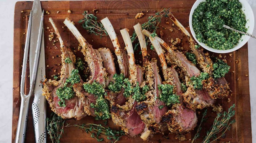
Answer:
[{"label": "thyme sprig lying horizontally along bottom of board, below the chops", "polygon": [[[105,123],[106,125],[106,123]],[[65,127],[71,127],[71,126],[75,126],[78,127],[80,129],[83,129],[86,133],[90,134],[92,138],[95,138],[98,142],[103,141],[104,138],[106,137],[108,140],[114,141],[114,143],[116,143],[120,137],[122,135],[125,135],[125,133],[123,131],[116,131],[116,130],[112,130],[109,127],[104,127],[104,125],[101,124],[82,124],[82,125],[70,125],[67,124]]]}]

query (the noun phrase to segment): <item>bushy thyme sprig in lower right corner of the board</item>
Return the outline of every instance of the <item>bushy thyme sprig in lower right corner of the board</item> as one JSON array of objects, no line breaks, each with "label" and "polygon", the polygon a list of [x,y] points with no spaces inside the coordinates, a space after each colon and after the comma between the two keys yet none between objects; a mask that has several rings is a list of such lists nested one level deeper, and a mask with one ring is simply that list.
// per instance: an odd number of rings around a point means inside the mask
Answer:
[{"label": "bushy thyme sprig in lower right corner of the board", "polygon": [[[233,104],[229,109],[228,112],[218,113],[217,117],[214,119],[213,125],[209,131],[207,131],[206,136],[204,137],[203,143],[211,143],[216,141],[220,137],[225,136],[225,132],[230,130],[231,124],[235,123],[236,120],[231,118],[235,115],[235,104]],[[217,136],[218,133],[222,133],[220,136]],[[213,139],[210,141],[210,139]]]}]

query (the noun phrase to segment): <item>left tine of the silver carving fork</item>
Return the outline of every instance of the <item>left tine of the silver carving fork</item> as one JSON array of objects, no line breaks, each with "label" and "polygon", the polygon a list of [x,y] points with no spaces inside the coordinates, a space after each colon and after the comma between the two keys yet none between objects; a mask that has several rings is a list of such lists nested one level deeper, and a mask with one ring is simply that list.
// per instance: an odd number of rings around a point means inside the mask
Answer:
[{"label": "left tine of the silver carving fork", "polygon": [[29,23],[27,29],[27,36],[24,48],[24,57],[23,57],[23,64],[22,64],[22,73],[21,73],[21,94],[24,95],[24,85],[25,85],[25,78],[26,78],[26,68],[27,68],[27,61],[28,61],[28,53],[29,53],[29,39],[30,39],[30,30],[31,30],[31,23],[32,23],[32,10],[29,16]]}]

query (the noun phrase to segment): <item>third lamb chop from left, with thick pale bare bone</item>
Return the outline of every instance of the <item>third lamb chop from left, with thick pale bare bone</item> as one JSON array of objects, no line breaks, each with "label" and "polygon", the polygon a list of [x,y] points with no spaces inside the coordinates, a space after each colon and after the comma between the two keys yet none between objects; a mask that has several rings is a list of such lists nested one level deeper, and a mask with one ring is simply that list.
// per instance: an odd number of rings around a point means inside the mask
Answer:
[{"label": "third lamb chop from left, with thick pale bare bone", "polygon": [[[101,23],[105,27],[105,29],[113,43],[113,46],[115,48],[115,54],[117,56],[117,62],[119,65],[120,73],[123,74],[123,76],[125,78],[128,78],[129,77],[128,57],[127,57],[125,51],[123,49],[121,49],[121,47],[120,47],[116,32],[115,32],[111,22],[109,21],[108,17],[102,19]],[[113,60],[113,57],[109,57],[109,59]],[[105,68],[107,69],[107,67],[105,67]],[[109,76],[112,74],[114,74],[114,75],[116,74],[116,72],[115,73],[112,71],[110,71],[110,72],[111,73],[109,73]],[[112,75],[111,79],[113,78],[114,75]],[[109,80],[109,82],[115,83],[115,80],[112,79],[112,80]],[[108,91],[107,98],[109,99],[111,106],[115,105],[115,104],[123,105],[126,102],[126,98],[123,96],[123,93],[124,93],[123,88],[118,92]]]}]

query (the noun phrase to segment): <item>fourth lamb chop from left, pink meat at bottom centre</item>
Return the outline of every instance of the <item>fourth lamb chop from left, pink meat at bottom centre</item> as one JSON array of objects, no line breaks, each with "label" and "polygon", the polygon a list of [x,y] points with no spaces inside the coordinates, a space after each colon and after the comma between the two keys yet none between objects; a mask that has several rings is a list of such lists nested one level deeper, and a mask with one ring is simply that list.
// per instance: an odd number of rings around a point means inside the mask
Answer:
[{"label": "fourth lamb chop from left, pink meat at bottom centre", "polygon": [[[141,85],[143,80],[143,68],[135,65],[132,42],[128,31],[126,29],[123,29],[120,30],[120,32],[124,39],[126,49],[129,55],[130,83],[132,86],[136,86],[137,82],[139,82],[139,85]],[[127,99],[128,101],[125,105],[120,106],[117,104],[112,106],[112,120],[114,124],[122,127],[122,130],[127,135],[139,135],[143,132],[146,126],[140,119],[138,113],[135,111],[135,106],[137,105],[137,102],[131,96]]]}]

